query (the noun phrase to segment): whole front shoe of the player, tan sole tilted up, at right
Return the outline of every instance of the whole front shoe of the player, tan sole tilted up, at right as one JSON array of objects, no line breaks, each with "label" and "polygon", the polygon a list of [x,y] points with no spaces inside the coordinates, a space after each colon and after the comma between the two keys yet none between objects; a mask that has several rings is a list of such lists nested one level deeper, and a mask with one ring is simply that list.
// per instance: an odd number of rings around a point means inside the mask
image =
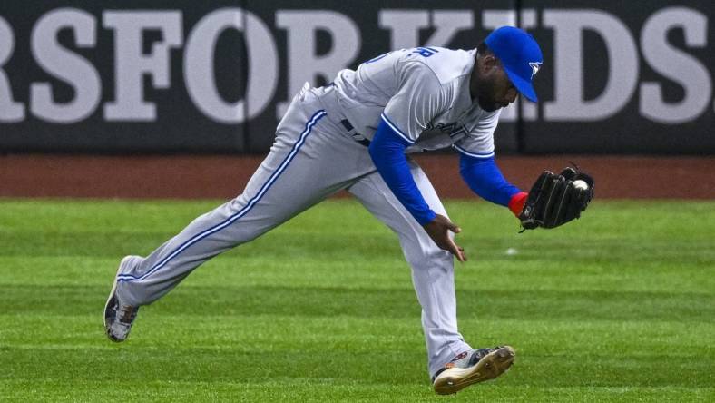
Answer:
[{"label": "whole front shoe of the player, tan sole tilted up, at right", "polygon": [[514,355],[514,349],[509,346],[465,351],[436,373],[432,379],[435,392],[449,395],[474,383],[494,379],[512,366]]}]

